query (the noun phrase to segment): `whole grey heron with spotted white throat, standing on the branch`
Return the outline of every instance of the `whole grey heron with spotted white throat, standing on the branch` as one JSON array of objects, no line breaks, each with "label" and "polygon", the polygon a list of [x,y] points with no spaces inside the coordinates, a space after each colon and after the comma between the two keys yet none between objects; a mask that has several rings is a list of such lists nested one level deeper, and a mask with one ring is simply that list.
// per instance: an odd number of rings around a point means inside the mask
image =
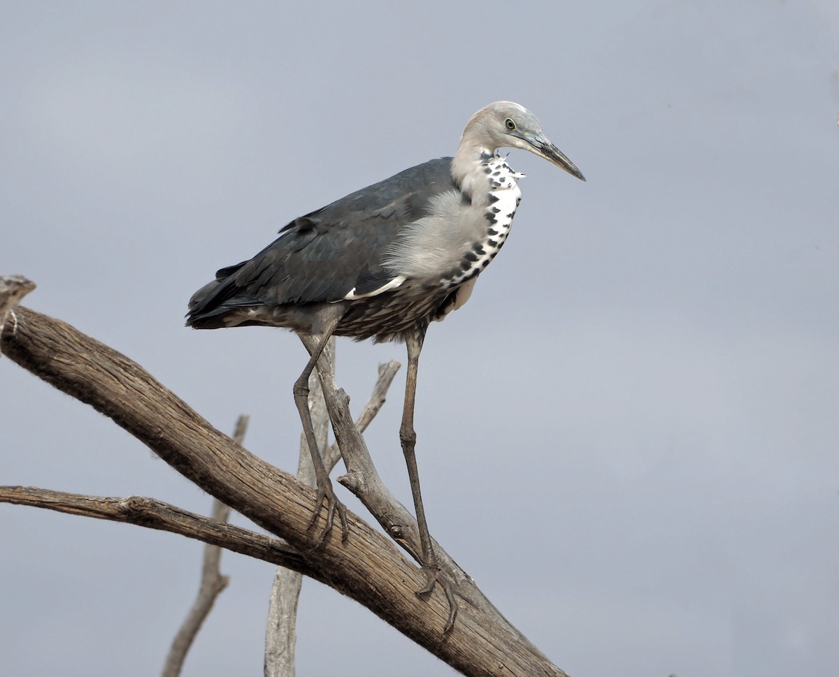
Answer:
[{"label": "whole grey heron with spotted white throat, standing on the branch", "polygon": [[[430,121],[436,124],[436,121]],[[519,207],[519,178],[501,148],[529,151],[585,181],[581,171],[545,137],[524,106],[496,101],[466,123],[454,157],[405,169],[367,188],[300,216],[256,256],[216,272],[190,298],[186,324],[215,329],[263,325],[316,338],[294,383],[317,480],[314,525],[326,500],[326,528],[346,508],[336,498],[315,441],[308,383],[332,335],[404,342],[408,353],[399,440],[408,468],[420,532],[420,565],[430,593],[440,568],[420,493],[414,431],[414,396],[420,352],[432,321],[461,307],[477,277],[507,239]],[[443,584],[446,585],[445,583]],[[448,590],[451,629],[456,604]]]}]

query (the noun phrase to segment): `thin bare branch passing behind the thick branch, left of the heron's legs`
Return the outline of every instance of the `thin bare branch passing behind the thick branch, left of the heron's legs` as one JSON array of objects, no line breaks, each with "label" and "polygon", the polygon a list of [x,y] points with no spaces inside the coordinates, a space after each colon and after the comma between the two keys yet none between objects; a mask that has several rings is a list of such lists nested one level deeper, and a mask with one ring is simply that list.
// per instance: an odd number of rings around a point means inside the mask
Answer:
[{"label": "thin bare branch passing behind the thick branch, left of the heron's legs", "polygon": [[[242,414],[236,421],[233,432],[233,440],[242,444],[245,439],[245,432],[248,430],[248,416]],[[219,499],[213,499],[211,519],[216,522],[227,522],[230,518],[230,508],[221,503]],[[184,668],[186,653],[190,650],[195,635],[201,629],[204,619],[210,614],[216,597],[227,587],[230,581],[228,576],[221,576],[219,564],[221,562],[221,547],[207,543],[204,546],[204,563],[201,566],[201,585],[198,587],[198,595],[195,597],[190,612],[186,614],[184,623],[175,634],[169,654],[164,662],[163,677],[177,677]],[[297,574],[300,576],[300,574]]]}]

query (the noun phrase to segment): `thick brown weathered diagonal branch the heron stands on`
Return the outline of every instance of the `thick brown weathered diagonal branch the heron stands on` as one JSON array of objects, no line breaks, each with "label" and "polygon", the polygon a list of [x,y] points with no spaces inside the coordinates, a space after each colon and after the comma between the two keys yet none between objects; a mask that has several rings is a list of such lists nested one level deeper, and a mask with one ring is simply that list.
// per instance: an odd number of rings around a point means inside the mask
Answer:
[{"label": "thick brown weathered diagonal branch the heron stands on", "polygon": [[[340,533],[332,534],[314,550],[325,518],[321,515],[308,529],[313,489],[218,432],[138,364],[107,345],[27,308],[19,307],[16,315],[16,329],[7,326],[0,336],[3,354],[110,416],[207,493],[286,540],[315,571],[313,577],[357,600],[464,674],[565,674],[513,628],[465,574],[458,586],[469,603],[461,604],[455,628],[444,637],[449,612],[444,592],[435,590],[427,599],[418,599],[414,591],[423,585],[424,576],[357,515],[347,514],[351,533],[346,542],[341,542]],[[320,378],[324,380],[322,373]],[[335,392],[326,383],[324,390],[327,398]],[[358,446],[346,395],[342,399],[344,406],[333,402],[337,406],[330,406],[330,413],[336,434],[341,432],[341,452],[345,459],[356,459],[366,448]],[[347,483],[368,479],[354,473],[349,461],[347,468]],[[355,490],[365,498],[370,495],[369,488]],[[380,522],[391,523],[406,541],[416,542],[407,511],[405,519],[395,511],[385,513],[387,519],[378,517]]]}]

